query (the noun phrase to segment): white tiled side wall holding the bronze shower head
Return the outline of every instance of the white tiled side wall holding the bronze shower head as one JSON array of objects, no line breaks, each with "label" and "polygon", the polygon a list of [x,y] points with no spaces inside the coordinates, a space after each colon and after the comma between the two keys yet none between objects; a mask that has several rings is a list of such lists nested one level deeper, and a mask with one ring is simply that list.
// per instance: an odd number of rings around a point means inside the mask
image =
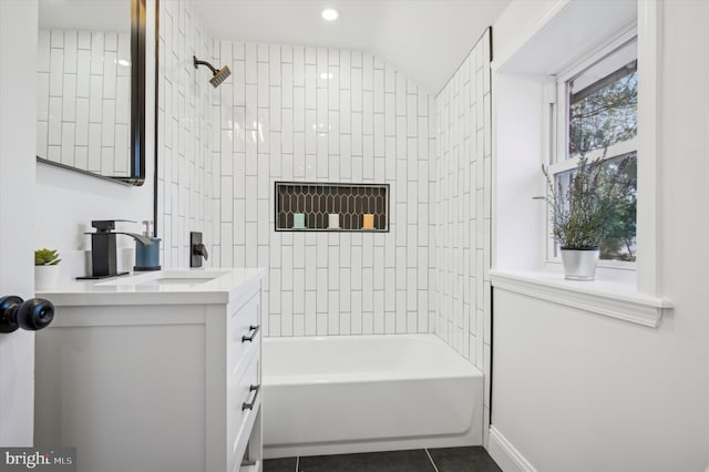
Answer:
[{"label": "white tiled side wall holding the bronze shower head", "polygon": [[[212,38],[194,3],[161,1],[156,223],[163,238],[163,267],[189,267],[189,232],[203,232],[209,244],[220,236],[219,215],[232,218],[230,201],[220,208],[214,199],[223,178],[210,151],[212,123],[219,121],[213,116],[212,72],[204,66],[196,70],[193,55],[206,61],[212,58]],[[229,86],[230,82],[222,84]],[[230,227],[222,235],[227,240],[235,236]],[[218,260],[218,253],[209,253],[207,266],[215,256]]]}]

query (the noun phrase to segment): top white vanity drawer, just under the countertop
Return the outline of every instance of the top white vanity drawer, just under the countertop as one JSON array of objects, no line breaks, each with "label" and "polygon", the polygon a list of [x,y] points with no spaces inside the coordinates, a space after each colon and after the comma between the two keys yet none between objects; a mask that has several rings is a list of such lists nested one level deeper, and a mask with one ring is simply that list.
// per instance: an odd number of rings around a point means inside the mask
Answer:
[{"label": "top white vanity drawer, just under the countertop", "polygon": [[229,315],[227,322],[227,372],[240,376],[245,361],[253,356],[254,348],[261,339],[260,295],[254,295],[237,311]]}]

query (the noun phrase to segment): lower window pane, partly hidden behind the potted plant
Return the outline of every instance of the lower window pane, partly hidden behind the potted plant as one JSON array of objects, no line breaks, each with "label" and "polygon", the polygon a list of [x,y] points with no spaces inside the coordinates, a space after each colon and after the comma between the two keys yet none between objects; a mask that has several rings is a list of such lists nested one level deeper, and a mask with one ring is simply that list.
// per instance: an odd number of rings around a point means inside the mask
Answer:
[{"label": "lower window pane, partly hidden behind the potted plant", "polygon": [[[620,163],[628,158],[625,166]],[[619,182],[629,183],[627,198],[618,201],[607,216],[600,239],[600,258],[605,260],[628,260],[636,258],[636,209],[637,209],[637,152],[628,153],[604,162],[608,175]],[[567,195],[575,170],[561,172],[555,176],[557,195]],[[558,244],[554,247],[558,256]]]}]

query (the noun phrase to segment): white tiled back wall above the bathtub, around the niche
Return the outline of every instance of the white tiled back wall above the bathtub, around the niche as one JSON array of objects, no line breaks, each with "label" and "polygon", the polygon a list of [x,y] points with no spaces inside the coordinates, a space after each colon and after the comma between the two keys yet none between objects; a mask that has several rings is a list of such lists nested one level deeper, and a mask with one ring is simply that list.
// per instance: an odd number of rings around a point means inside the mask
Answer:
[{"label": "white tiled back wall above the bathtub, around the niche", "polygon": [[[433,98],[369,53],[229,41],[213,51],[233,75],[213,95],[220,226],[206,239],[215,264],[269,268],[267,336],[431,331]],[[390,184],[391,232],[276,233],[276,181]]]}]

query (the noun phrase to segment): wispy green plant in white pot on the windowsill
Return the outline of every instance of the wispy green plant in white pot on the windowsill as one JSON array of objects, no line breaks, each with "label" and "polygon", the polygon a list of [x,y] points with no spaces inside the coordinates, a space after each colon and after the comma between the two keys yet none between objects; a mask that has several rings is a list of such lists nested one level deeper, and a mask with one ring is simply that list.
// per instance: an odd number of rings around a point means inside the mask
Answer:
[{"label": "wispy green plant in white pot on the windowsill", "polygon": [[562,250],[566,279],[594,279],[608,217],[631,192],[631,182],[620,177],[628,164],[626,157],[612,171],[603,157],[589,162],[582,155],[565,191],[542,166],[548,186],[554,238]]}]

